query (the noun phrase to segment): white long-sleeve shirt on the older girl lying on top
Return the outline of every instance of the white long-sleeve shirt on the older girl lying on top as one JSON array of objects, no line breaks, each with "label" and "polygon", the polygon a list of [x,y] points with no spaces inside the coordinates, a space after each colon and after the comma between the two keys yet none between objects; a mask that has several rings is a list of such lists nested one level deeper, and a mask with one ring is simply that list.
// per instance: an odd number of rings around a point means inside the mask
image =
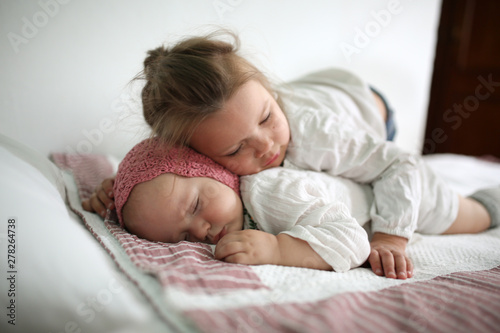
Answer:
[{"label": "white long-sleeve shirt on the older girl lying on top", "polygon": [[419,156],[386,141],[368,85],[344,70],[278,88],[291,130],[285,167],[322,171],[373,188],[373,231],[410,238],[422,197]]}]

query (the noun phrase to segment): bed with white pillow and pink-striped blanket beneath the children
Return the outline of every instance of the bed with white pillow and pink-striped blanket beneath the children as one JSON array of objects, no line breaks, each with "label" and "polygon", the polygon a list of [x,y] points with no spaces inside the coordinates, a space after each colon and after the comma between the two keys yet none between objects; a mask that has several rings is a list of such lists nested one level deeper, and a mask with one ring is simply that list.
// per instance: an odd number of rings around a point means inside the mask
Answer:
[{"label": "bed with white pillow and pink-striped blanket beneath the children", "polygon": [[[500,163],[425,157],[462,194]],[[2,332],[498,332],[500,228],[423,236],[415,277],[214,260],[210,245],[153,243],[81,207],[116,161],[49,159],[0,136]],[[13,226],[13,227],[12,227]],[[14,245],[14,246],[12,246]],[[10,256],[8,256],[10,254]],[[7,276],[7,278],[5,278]]]}]

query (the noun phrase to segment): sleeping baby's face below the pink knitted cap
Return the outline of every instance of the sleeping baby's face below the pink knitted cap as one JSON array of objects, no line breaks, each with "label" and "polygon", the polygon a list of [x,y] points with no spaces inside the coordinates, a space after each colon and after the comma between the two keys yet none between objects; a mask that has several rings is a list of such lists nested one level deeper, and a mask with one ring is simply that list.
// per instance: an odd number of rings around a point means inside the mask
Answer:
[{"label": "sleeping baby's face below the pink knitted cap", "polygon": [[127,229],[151,241],[217,244],[243,228],[240,197],[206,177],[171,173],[136,185],[123,209]]}]

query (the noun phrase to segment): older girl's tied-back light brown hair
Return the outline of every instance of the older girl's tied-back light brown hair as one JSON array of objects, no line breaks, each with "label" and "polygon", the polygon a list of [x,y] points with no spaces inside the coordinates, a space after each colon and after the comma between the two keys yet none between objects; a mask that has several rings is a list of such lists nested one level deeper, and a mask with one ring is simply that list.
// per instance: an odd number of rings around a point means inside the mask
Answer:
[{"label": "older girl's tied-back light brown hair", "polygon": [[[221,34],[232,42],[216,38]],[[138,78],[146,80],[143,112],[153,136],[168,147],[189,145],[196,127],[251,79],[273,94],[264,74],[237,54],[239,46],[234,33],[223,31],[148,51]]]}]

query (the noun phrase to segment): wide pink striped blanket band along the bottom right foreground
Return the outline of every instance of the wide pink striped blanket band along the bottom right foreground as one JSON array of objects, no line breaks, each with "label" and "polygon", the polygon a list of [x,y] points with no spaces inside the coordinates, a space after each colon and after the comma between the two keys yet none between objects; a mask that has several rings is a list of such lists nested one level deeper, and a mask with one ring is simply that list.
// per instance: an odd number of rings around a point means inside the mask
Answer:
[{"label": "wide pink striped blanket band along the bottom right foreground", "polygon": [[500,268],[318,302],[186,314],[205,332],[498,332]]}]

